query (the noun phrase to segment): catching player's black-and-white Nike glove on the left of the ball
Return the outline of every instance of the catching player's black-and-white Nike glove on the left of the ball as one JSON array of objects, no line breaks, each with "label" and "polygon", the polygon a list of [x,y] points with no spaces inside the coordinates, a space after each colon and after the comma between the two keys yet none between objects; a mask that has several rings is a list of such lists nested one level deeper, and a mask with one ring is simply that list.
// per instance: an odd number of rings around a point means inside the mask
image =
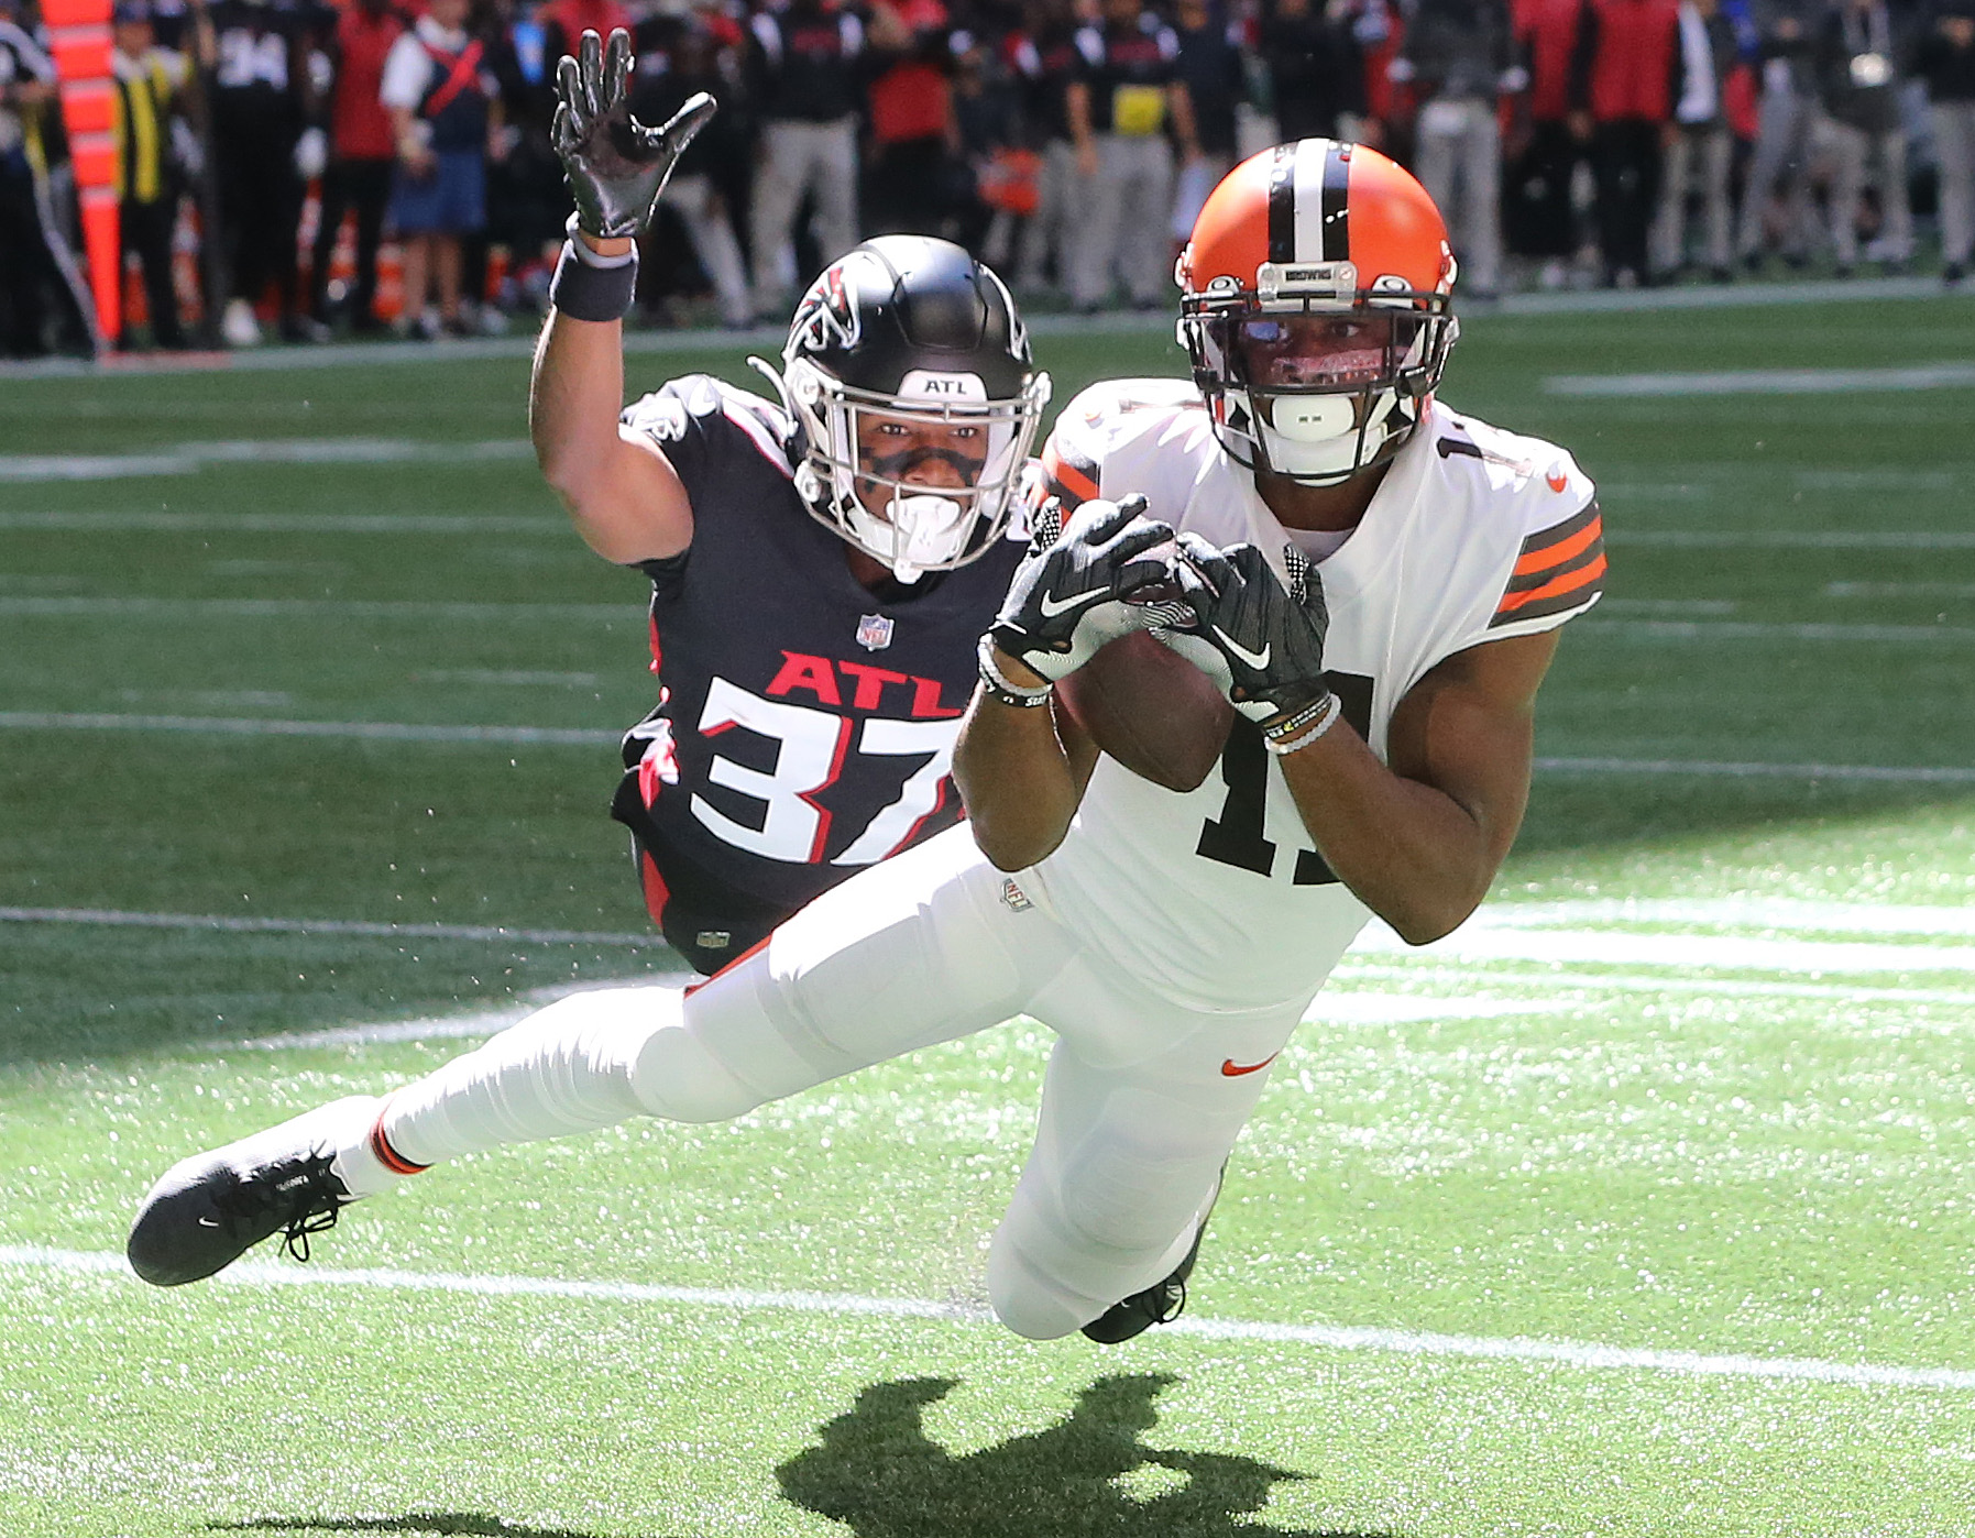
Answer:
[{"label": "catching player's black-and-white Nike glove on the left of the ball", "polygon": [[1159,622],[1128,594],[1165,582],[1173,529],[1146,517],[1146,498],[1092,498],[1061,525],[1055,503],[1035,515],[1029,553],[1015,567],[988,638],[1055,683],[1100,646]]}]

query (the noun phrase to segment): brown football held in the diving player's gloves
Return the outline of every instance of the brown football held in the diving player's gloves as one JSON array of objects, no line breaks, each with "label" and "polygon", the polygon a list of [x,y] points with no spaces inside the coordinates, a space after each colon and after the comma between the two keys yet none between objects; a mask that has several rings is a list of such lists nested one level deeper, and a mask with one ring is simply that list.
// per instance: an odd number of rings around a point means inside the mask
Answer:
[{"label": "brown football held in the diving player's gloves", "polygon": [[1234,721],[1207,673],[1144,630],[1057,683],[1057,699],[1104,752],[1167,790],[1207,780]]}]

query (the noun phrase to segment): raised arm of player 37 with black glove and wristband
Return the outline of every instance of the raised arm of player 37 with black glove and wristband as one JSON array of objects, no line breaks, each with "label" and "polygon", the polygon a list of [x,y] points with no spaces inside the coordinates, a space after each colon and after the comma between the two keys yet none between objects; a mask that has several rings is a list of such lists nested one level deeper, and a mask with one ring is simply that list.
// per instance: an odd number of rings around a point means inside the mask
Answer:
[{"label": "raised arm of player 37 with black glove and wristband", "polygon": [[620,430],[624,324],[636,237],[713,99],[695,97],[662,128],[630,116],[630,36],[608,51],[585,32],[557,67],[555,150],[577,203],[557,269],[555,308],[535,347],[527,419],[541,474],[598,555],[654,561],[693,535],[693,509],[658,444]]}]

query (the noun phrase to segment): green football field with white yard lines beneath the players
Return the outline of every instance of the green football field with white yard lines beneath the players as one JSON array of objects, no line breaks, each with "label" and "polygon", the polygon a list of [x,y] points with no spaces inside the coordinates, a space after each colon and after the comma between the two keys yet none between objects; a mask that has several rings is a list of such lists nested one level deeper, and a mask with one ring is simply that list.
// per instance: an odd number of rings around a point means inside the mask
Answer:
[{"label": "green football field with white yard lines beneath the players", "polygon": [[675,971],[642,578],[514,349],[0,379],[0,1538],[1975,1534],[1975,300],[1481,314],[1446,395],[1602,486],[1529,823],[1100,1348],[984,1309],[1023,1021],[134,1281],[184,1153]]}]

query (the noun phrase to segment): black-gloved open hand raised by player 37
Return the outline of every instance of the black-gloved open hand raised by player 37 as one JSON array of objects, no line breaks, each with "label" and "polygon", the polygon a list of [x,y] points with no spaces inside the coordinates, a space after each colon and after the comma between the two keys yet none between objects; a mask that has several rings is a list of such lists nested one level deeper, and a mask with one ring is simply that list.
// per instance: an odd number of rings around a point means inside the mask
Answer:
[{"label": "black-gloved open hand raised by player 37", "polygon": [[565,53],[555,65],[555,97],[549,138],[577,199],[577,227],[585,235],[636,237],[650,223],[685,146],[713,116],[713,97],[697,93],[664,128],[638,122],[630,115],[630,34],[624,28],[610,34],[608,49],[594,32],[585,32],[577,57]]}]

